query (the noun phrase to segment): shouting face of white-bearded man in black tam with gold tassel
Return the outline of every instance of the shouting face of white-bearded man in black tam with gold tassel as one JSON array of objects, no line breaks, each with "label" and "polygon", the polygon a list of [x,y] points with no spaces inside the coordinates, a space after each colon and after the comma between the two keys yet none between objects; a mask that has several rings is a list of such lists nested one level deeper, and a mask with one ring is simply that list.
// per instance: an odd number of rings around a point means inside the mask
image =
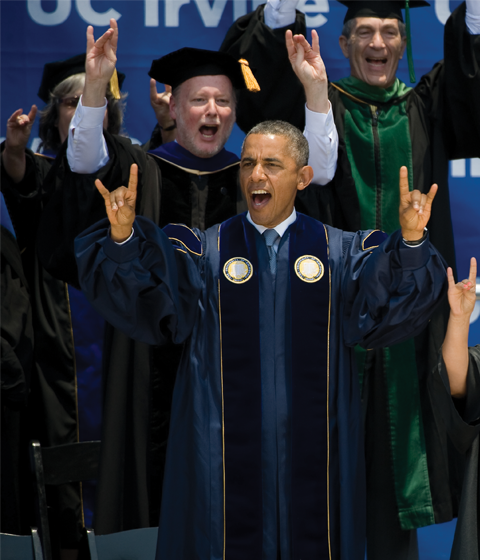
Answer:
[{"label": "shouting face of white-bearded man in black tam with gold tassel", "polygon": [[171,97],[170,114],[177,123],[180,146],[202,158],[218,154],[235,123],[231,81],[223,75],[186,80]]}]

